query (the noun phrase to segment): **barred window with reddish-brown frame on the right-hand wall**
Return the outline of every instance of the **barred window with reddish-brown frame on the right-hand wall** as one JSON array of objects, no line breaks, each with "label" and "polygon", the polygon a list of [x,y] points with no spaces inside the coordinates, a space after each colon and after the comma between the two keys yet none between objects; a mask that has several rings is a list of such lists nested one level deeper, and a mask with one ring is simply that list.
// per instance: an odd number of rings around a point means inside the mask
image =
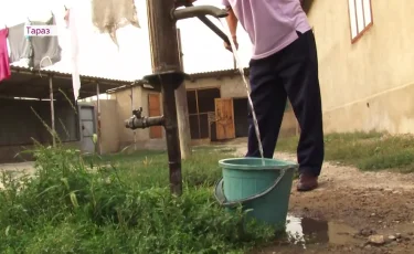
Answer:
[{"label": "barred window with reddish-brown frame on the right-hand wall", "polygon": [[372,27],[371,0],[348,0],[351,41],[357,42]]}]

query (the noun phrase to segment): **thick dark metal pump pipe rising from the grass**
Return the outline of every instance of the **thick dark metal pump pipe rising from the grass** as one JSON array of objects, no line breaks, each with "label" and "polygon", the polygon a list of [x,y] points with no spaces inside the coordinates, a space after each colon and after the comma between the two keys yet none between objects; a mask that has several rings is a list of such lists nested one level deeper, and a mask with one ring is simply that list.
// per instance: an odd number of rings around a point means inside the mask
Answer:
[{"label": "thick dark metal pump pipe rising from the grass", "polygon": [[[171,19],[171,10],[174,9],[174,0],[147,0],[151,64],[155,74],[180,71],[177,27]],[[172,193],[180,195],[182,193],[181,151],[177,127],[176,95],[170,84],[162,83],[161,92],[166,120],[170,188]]]}]

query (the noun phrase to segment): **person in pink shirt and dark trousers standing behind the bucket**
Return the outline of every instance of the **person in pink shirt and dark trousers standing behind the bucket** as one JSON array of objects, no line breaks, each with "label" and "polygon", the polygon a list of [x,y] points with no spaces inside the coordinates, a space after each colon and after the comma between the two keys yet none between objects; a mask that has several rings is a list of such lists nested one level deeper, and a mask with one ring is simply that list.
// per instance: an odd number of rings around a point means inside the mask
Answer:
[{"label": "person in pink shirt and dark trousers standing behind the bucket", "polygon": [[[314,32],[300,0],[222,0],[232,39],[237,46],[237,23],[250,35],[251,96],[257,116],[264,156],[273,158],[287,103],[300,126],[297,148],[298,191],[318,187],[323,161],[323,128]],[[225,43],[231,51],[231,46]],[[248,114],[246,157],[259,157],[258,142]]]}]

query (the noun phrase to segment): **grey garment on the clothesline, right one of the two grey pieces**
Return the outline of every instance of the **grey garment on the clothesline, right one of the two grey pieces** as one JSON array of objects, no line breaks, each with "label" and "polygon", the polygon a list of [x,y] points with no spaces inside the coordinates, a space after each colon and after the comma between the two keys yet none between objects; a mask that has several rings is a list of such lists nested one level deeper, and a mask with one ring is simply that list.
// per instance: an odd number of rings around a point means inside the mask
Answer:
[{"label": "grey garment on the clothesline, right one of the two grey pieces", "polygon": [[[33,25],[56,25],[54,15],[46,21],[32,21]],[[30,36],[30,42],[33,47],[33,57],[29,66],[35,70],[51,66],[62,59],[62,47],[59,45],[59,38],[56,36]]]}]

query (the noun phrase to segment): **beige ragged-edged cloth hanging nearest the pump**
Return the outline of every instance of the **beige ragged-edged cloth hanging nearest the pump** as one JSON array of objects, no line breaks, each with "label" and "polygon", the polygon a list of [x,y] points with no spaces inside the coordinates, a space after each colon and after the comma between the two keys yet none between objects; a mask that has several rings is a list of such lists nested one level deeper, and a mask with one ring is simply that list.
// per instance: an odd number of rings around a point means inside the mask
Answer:
[{"label": "beige ragged-edged cloth hanging nearest the pump", "polygon": [[116,31],[128,24],[140,28],[134,0],[93,0],[92,21],[102,33],[108,33],[118,45]]}]

